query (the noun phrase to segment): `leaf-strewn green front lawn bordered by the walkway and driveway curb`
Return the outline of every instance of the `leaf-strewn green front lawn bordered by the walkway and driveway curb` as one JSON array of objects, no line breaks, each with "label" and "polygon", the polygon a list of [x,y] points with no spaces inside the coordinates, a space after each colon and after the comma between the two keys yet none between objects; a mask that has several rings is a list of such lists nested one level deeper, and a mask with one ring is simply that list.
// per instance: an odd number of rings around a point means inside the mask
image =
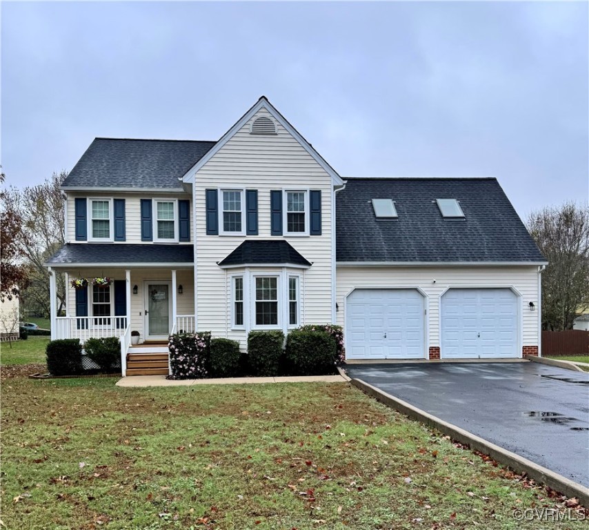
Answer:
[{"label": "leaf-strewn green front lawn bordered by the walkway and driveway curb", "polygon": [[554,506],[348,384],[115,381],[5,380],[7,528],[534,529],[513,509]]}]

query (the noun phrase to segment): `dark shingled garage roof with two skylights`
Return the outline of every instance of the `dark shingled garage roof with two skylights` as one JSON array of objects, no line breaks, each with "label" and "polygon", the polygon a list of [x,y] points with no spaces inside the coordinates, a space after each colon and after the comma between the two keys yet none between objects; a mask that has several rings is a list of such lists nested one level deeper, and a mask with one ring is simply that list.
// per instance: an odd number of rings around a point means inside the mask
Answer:
[{"label": "dark shingled garage roof with two skylights", "polygon": [[[348,179],[337,197],[338,262],[545,262],[497,179]],[[392,198],[398,219],[371,199]],[[443,219],[435,199],[458,199]]]}]

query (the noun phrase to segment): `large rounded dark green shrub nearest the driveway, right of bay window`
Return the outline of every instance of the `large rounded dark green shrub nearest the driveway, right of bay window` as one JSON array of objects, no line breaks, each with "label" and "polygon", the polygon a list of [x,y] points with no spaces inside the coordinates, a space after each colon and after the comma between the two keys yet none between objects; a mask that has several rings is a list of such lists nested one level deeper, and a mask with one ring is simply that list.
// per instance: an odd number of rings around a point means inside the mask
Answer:
[{"label": "large rounded dark green shrub nearest the driveway, right of bay window", "polygon": [[337,344],[322,329],[294,329],[286,337],[285,364],[291,375],[325,375],[335,371]]}]

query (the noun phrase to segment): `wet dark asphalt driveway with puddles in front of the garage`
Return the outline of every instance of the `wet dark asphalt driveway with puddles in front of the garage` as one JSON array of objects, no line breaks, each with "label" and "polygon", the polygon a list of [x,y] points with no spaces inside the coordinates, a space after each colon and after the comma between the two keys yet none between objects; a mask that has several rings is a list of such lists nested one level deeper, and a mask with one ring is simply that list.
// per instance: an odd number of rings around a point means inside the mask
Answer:
[{"label": "wet dark asphalt driveway with puddles in front of the garage", "polygon": [[589,373],[539,364],[352,364],[348,375],[589,487]]}]

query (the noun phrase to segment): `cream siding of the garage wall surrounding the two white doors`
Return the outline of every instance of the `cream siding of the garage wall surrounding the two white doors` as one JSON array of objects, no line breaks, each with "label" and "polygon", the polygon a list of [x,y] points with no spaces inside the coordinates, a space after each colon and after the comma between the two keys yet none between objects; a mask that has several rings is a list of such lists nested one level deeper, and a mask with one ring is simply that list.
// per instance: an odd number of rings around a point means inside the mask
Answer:
[{"label": "cream siding of the garage wall surrounding the two white doors", "polygon": [[[539,345],[538,313],[530,311],[528,306],[530,302],[538,306],[537,266],[338,266],[336,302],[339,311],[336,323],[340,326],[346,322],[346,295],[353,288],[362,287],[421,288],[428,297],[428,346],[440,346],[440,295],[448,288],[515,288],[521,295],[518,299],[521,346]],[[443,357],[443,353],[441,355]]]}]

